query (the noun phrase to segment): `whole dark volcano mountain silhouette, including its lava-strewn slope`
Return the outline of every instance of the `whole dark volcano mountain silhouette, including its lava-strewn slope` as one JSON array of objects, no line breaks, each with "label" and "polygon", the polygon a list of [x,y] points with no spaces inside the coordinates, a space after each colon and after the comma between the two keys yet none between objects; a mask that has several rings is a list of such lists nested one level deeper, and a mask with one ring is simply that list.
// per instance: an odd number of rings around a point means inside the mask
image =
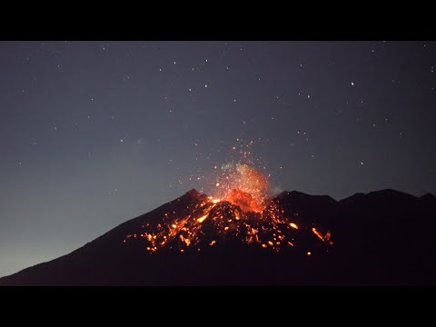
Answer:
[{"label": "whole dark volcano mountain silhouette, including its lava-strewn slope", "polygon": [[436,284],[435,199],[382,190],[337,202],[283,192],[268,207],[282,217],[272,224],[232,203],[202,204],[207,196],[191,190],[0,285]]}]

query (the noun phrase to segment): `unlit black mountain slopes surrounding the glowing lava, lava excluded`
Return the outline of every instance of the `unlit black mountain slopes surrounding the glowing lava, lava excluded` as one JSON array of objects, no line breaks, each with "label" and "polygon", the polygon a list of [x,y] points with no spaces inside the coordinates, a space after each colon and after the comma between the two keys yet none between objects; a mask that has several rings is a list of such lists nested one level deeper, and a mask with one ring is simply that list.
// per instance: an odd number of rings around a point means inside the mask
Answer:
[{"label": "unlit black mountain slopes surrounding the glowing lava, lava excluded", "polygon": [[[191,189],[149,213],[120,223],[71,253],[0,278],[0,285],[436,283],[436,261],[429,259],[436,257],[433,255],[436,243],[430,232],[436,227],[432,219],[436,212],[436,205],[431,201],[434,195],[415,197],[389,189],[356,193],[340,201],[328,195],[297,191],[275,196],[272,201],[284,212],[292,213],[292,222],[297,225],[306,223],[309,232],[318,224],[332,230],[332,249],[307,251],[307,256],[302,255],[306,254],[305,250],[298,253],[292,247],[265,253],[260,247],[235,243],[234,237],[224,238],[226,241],[218,247],[206,246],[198,253],[186,248],[183,255],[159,252],[147,255],[142,243],[123,247],[123,238],[140,230],[144,222],[159,223],[165,213],[172,211],[183,215],[206,198],[207,195]],[[233,207],[224,203],[217,208]],[[312,243],[302,238],[302,244]],[[190,263],[192,270],[186,268],[186,263]],[[215,263],[223,264],[216,268],[222,274],[211,271]],[[264,268],[266,263],[272,267],[269,272]],[[179,274],[172,266],[179,267]],[[254,267],[254,272],[248,273]],[[234,272],[239,275],[232,276]]]}]

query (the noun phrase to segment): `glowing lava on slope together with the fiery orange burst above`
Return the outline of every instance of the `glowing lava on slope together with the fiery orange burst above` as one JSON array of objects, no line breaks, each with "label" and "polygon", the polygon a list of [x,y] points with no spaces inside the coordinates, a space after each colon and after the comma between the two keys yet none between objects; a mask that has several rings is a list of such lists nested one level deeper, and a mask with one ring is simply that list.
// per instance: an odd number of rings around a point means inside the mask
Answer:
[{"label": "glowing lava on slope together with the fiery orange burst above", "polygon": [[285,213],[269,194],[268,179],[248,164],[227,164],[217,177],[215,196],[195,190],[178,199],[177,210],[160,221],[144,221],[124,243],[144,242],[148,253],[163,249],[184,253],[202,251],[229,240],[280,252],[300,248],[312,256],[316,248],[332,245],[331,232],[303,222],[298,213]]}]

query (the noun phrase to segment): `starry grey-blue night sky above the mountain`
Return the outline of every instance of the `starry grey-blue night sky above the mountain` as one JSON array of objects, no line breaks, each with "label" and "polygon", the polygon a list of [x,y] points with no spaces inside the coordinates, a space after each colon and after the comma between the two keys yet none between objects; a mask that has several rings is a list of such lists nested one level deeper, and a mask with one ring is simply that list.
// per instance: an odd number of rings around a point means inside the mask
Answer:
[{"label": "starry grey-blue night sky above the mountain", "polygon": [[191,188],[436,193],[435,42],[1,42],[0,276]]}]

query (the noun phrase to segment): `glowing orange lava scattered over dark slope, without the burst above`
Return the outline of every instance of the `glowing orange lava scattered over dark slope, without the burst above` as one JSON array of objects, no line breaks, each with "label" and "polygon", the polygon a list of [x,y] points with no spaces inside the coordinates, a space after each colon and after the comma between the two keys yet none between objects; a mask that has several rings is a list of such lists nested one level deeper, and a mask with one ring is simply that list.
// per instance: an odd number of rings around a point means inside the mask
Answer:
[{"label": "glowing orange lava scattered over dark slope, without the burst above", "polygon": [[[124,243],[142,240],[148,253],[164,249],[185,253],[189,248],[200,251],[229,239],[246,245],[257,244],[275,252],[297,248],[300,240],[304,241],[304,246],[310,244],[312,249],[313,244],[319,248],[332,245],[330,232],[322,233],[322,227],[315,228],[312,224],[300,222],[297,226],[292,222],[297,216],[286,215],[280,204],[272,199],[263,204],[261,212],[255,212],[250,202],[253,197],[243,191],[241,194],[239,191],[232,193],[237,195],[232,198],[232,203],[193,192],[192,196],[183,196],[186,198],[180,203],[180,210],[163,213],[159,221],[144,223],[141,233],[128,234]],[[302,250],[307,253],[307,250]]]}]

